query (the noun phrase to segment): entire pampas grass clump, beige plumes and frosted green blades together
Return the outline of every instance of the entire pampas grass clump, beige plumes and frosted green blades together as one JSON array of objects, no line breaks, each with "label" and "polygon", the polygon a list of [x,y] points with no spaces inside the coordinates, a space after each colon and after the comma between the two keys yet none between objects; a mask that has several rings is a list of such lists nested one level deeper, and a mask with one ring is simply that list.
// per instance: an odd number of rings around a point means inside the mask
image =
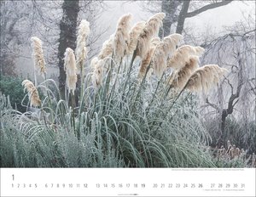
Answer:
[{"label": "entire pampas grass clump, beige plumes and frosted green blades together", "polygon": [[[65,93],[68,90],[72,95],[61,97],[56,82],[45,79],[37,86],[44,90],[41,102],[37,88],[25,80],[22,85],[30,104],[40,107],[26,113],[7,108],[0,96],[1,166],[214,167],[206,150],[209,134],[189,105],[192,93],[184,90],[209,89],[226,70],[218,65],[198,68],[203,49],[183,46],[176,50],[180,35],[160,41],[157,34],[164,17],[164,13],[155,14],[145,25],[138,23],[130,30],[131,14],[125,14],[113,37],[91,60],[86,75],[90,27],[82,20],[75,54],[67,48],[64,59]],[[155,53],[156,48],[161,53]],[[137,61],[136,56],[140,57]],[[172,74],[166,70],[168,58],[175,68]],[[154,73],[164,73],[160,79],[148,77],[155,64],[160,68]],[[74,95],[76,88],[79,94]],[[180,93],[167,97],[172,90]]]}]

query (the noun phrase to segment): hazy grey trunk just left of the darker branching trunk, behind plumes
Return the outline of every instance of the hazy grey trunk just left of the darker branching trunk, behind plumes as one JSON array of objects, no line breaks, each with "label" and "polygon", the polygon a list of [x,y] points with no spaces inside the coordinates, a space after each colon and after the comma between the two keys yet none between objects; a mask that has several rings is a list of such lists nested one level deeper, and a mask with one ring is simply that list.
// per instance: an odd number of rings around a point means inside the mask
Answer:
[{"label": "hazy grey trunk just left of the darker branching trunk, behind plumes", "polygon": [[160,29],[160,37],[166,37],[171,33],[172,24],[177,21],[176,11],[180,1],[177,0],[162,0],[161,11],[166,13],[163,20],[163,29]]}]

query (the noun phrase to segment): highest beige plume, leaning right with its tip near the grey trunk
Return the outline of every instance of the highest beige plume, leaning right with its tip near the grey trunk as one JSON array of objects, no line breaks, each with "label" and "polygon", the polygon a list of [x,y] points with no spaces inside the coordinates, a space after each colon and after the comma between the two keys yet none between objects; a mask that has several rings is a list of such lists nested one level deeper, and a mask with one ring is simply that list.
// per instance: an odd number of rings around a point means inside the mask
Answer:
[{"label": "highest beige plume, leaning right with its tip near the grey trunk", "polygon": [[150,41],[152,37],[158,34],[160,25],[162,25],[162,20],[165,18],[165,16],[165,13],[154,14],[154,16],[147,21],[145,27],[143,28],[143,32],[138,37],[137,56],[145,59],[150,47]]}]

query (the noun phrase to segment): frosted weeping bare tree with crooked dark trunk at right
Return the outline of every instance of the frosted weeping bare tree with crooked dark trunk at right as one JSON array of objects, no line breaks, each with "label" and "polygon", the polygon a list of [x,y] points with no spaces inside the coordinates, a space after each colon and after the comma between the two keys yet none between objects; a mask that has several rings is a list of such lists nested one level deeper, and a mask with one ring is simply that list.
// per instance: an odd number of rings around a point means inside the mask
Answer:
[{"label": "frosted weeping bare tree with crooked dark trunk at right", "polygon": [[[236,25],[237,29],[239,27]],[[256,135],[250,126],[250,122],[255,121],[255,29],[247,30],[243,27],[242,32],[233,30],[232,33],[208,43],[206,48],[207,53],[202,64],[211,59],[212,62],[230,70],[230,74],[219,84],[217,92],[208,96],[206,105],[202,106],[205,119],[209,122],[211,119],[215,120],[215,127],[210,129],[215,139],[213,143],[222,145],[232,138],[234,141],[240,141],[238,144],[255,150],[253,146],[256,144]],[[209,110],[209,107],[213,111]],[[229,128],[227,120],[231,120],[230,118],[239,122],[242,133],[235,132],[238,128]]]}]

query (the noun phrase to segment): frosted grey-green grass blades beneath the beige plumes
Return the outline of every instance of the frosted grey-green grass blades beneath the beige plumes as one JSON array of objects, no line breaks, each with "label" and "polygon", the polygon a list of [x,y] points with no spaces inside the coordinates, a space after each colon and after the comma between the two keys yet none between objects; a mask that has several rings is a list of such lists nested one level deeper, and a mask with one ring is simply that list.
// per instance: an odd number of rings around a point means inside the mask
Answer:
[{"label": "frosted grey-green grass blades beneath the beige plumes", "polygon": [[[77,107],[55,82],[38,85],[42,106],[21,114],[1,100],[3,167],[214,167],[196,97],[151,77],[137,81],[136,63],[106,62],[102,87],[88,73]],[[51,87],[50,89],[48,87]],[[167,96],[166,96],[167,95]],[[50,101],[50,102],[49,102]]]}]

